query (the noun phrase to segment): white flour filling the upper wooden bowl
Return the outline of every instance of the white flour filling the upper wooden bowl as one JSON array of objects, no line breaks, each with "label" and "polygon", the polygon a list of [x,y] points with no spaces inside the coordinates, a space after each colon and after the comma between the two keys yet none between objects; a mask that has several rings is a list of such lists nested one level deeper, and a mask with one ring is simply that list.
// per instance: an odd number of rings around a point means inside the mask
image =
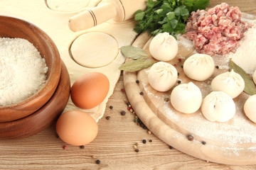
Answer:
[{"label": "white flour filling the upper wooden bowl", "polygon": [[0,106],[33,96],[46,83],[48,67],[36,47],[22,38],[0,38]]}]

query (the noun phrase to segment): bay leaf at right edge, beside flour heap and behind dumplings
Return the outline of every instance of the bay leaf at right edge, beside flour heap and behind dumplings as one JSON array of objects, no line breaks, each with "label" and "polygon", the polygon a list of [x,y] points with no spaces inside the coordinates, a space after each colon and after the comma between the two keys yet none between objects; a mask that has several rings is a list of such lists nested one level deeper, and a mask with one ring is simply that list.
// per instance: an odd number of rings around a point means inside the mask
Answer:
[{"label": "bay leaf at right edge, beside flour heap and behind dumplings", "polygon": [[243,70],[241,67],[239,67],[238,64],[235,64],[235,62],[233,62],[231,59],[230,59],[230,69],[233,69],[236,73],[240,74],[242,79],[244,79],[245,93],[247,93],[249,95],[256,94],[256,87],[255,87],[255,84],[253,83],[251,77],[245,72],[245,70]]}]

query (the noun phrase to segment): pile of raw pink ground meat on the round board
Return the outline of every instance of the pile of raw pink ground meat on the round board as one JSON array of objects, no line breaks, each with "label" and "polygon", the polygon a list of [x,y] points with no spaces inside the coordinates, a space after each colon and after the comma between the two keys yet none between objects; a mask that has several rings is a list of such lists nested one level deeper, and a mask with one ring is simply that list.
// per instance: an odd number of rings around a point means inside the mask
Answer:
[{"label": "pile of raw pink ground meat on the round board", "polygon": [[186,24],[186,38],[193,40],[196,50],[208,55],[235,52],[238,40],[250,28],[240,19],[238,7],[222,3],[208,11],[192,12]]}]

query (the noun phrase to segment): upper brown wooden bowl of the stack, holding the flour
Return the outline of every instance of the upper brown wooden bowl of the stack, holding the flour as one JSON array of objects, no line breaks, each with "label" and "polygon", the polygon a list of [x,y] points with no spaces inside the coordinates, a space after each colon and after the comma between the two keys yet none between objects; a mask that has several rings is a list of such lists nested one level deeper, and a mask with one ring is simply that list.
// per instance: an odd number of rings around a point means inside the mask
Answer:
[{"label": "upper brown wooden bowl of the stack, holding the flour", "polygon": [[33,96],[10,106],[0,106],[0,123],[24,118],[41,108],[58,86],[60,79],[60,55],[53,40],[37,26],[18,18],[0,16],[1,38],[23,38],[31,42],[46,60],[48,67],[46,84]]}]

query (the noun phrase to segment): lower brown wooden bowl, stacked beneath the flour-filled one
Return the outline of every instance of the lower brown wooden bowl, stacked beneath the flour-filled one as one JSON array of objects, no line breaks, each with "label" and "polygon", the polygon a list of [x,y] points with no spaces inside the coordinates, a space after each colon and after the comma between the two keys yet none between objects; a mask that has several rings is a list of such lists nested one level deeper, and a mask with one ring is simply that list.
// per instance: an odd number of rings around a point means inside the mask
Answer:
[{"label": "lower brown wooden bowl, stacked beneath the flour-filled one", "polygon": [[70,77],[62,62],[60,81],[50,100],[26,118],[0,123],[1,139],[22,139],[48,128],[65,109],[70,96]]}]

